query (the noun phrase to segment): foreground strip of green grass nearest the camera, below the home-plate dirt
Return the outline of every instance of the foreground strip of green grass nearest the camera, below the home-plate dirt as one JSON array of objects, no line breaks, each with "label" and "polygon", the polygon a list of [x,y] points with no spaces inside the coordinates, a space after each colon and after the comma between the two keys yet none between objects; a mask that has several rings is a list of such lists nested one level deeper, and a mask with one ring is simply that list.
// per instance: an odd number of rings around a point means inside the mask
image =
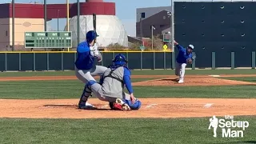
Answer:
[{"label": "foreground strip of green grass nearest the camera, below the home-plate dirt", "polygon": [[0,143],[255,143],[256,117],[235,119],[250,122],[243,138],[214,138],[209,118],[0,118]]}]

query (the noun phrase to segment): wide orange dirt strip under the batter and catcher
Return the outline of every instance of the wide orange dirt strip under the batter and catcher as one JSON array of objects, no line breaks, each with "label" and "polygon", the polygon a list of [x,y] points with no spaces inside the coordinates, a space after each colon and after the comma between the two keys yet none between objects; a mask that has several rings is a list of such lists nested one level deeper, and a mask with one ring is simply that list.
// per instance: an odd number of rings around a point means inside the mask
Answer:
[{"label": "wide orange dirt strip under the batter and catcher", "polygon": [[184,118],[213,115],[255,115],[256,99],[143,98],[142,108],[110,110],[106,102],[90,99],[99,110],[78,110],[78,99],[0,100],[0,118]]}]

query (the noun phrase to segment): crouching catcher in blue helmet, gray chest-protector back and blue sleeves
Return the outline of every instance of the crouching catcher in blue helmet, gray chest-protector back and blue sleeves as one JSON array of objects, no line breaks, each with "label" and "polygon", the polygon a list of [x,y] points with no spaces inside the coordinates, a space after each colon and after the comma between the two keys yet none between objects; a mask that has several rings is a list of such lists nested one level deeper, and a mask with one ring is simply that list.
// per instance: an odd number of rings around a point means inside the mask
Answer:
[{"label": "crouching catcher in blue helmet, gray chest-protector back and blue sleeves", "polygon": [[[127,60],[123,54],[117,54],[113,64],[108,66],[102,74],[99,83],[89,81],[86,83],[83,100],[93,93],[98,99],[109,102],[112,110],[138,110],[142,102],[134,97],[134,90],[130,81],[130,70],[126,66]],[[124,92],[124,86],[130,94]]]}]

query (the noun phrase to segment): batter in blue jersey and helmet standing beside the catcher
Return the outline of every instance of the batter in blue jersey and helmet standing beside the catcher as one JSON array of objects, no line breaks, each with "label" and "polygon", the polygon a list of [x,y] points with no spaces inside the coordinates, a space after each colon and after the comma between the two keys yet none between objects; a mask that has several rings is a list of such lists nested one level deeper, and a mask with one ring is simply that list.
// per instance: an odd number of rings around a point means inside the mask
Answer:
[{"label": "batter in blue jersey and helmet standing beside the catcher", "polygon": [[[96,62],[102,61],[102,55],[98,52],[98,46],[96,45],[96,38],[98,34],[94,30],[90,30],[86,34],[86,41],[78,44],[77,47],[77,59],[75,65],[75,75],[85,85],[89,81],[95,81],[93,76],[102,76],[106,71],[105,66],[96,66]],[[86,86],[82,92],[80,101],[78,102],[79,109],[92,109],[93,105],[87,102],[87,99],[83,99],[90,96],[87,93]]]}]

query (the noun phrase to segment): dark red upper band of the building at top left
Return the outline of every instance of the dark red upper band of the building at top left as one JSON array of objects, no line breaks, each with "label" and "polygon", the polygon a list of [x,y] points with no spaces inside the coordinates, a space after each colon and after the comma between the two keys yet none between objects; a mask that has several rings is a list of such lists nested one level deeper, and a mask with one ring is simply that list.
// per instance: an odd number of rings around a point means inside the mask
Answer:
[{"label": "dark red upper band of the building at top left", "polygon": [[[15,18],[44,18],[43,4],[15,3]],[[78,13],[77,3],[70,4],[70,18]],[[0,18],[12,18],[12,4],[0,4]],[[66,4],[47,4],[47,19],[66,18]],[[114,2],[80,2],[80,14],[115,15]]]}]

